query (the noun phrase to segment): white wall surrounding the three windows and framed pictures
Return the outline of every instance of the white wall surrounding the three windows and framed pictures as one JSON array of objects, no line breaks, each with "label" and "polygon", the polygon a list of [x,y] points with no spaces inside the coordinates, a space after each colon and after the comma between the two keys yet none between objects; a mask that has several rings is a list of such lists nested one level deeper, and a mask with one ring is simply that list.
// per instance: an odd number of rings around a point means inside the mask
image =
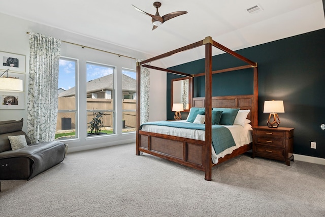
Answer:
[{"label": "white wall surrounding the three windows and framed pictures", "polygon": [[[0,13],[0,25],[6,26],[0,34],[0,51],[11,52],[26,55],[26,89],[28,86],[28,71],[29,71],[29,35],[26,32],[40,33],[48,36],[61,39],[62,41],[73,42],[88,47],[93,47],[113,53],[122,54],[134,58],[146,59],[152,57],[148,54],[141,53],[135,50],[120,47],[114,44],[109,44],[103,41],[94,40],[85,36],[80,36],[61,29],[45,26],[39,23],[23,20],[20,18],[8,16]],[[112,32],[114,34],[114,32]],[[109,40],[109,36],[108,36]],[[116,111],[121,111],[122,91],[121,91],[121,75],[122,68],[136,69],[136,60],[127,57],[119,57],[114,54],[96,51],[89,48],[81,48],[77,45],[62,42],[61,56],[72,57],[79,59],[79,83],[86,83],[86,61],[93,61],[96,63],[103,63],[115,66],[117,69],[116,83]],[[84,63],[84,64],[83,64]],[[160,61],[155,61],[154,66],[162,66]],[[149,101],[149,120],[164,120],[166,119],[166,73],[151,70],[150,71],[150,101]],[[80,105],[86,105],[86,87],[80,85],[79,87]],[[27,96],[25,98],[27,100]],[[118,101],[119,99],[119,101]],[[27,102],[26,102],[27,103]],[[25,106],[26,107],[26,106]],[[85,107],[79,107],[80,121],[79,125],[86,123]],[[24,110],[0,110],[1,120],[18,120],[24,118],[23,130],[26,131],[26,109]],[[121,113],[117,114],[117,119],[122,119]],[[69,144],[69,151],[85,150],[91,148],[98,148],[116,144],[123,144],[135,141],[135,133],[121,133],[121,121],[117,121],[116,135],[109,135],[105,137],[86,138],[86,131],[80,129],[79,139],[66,141]]]}]

